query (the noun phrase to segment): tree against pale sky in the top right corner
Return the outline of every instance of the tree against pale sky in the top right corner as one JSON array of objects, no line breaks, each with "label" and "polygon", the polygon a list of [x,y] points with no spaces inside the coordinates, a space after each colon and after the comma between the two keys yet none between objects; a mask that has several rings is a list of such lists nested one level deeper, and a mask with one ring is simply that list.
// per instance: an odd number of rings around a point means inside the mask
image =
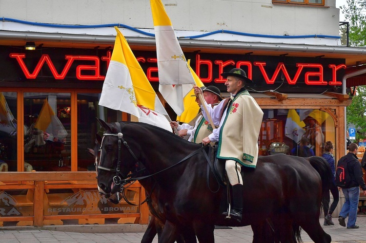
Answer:
[{"label": "tree against pale sky in the top right corner", "polygon": [[366,45],[366,0],[347,0],[347,5],[340,7],[349,23],[349,45]]}]

